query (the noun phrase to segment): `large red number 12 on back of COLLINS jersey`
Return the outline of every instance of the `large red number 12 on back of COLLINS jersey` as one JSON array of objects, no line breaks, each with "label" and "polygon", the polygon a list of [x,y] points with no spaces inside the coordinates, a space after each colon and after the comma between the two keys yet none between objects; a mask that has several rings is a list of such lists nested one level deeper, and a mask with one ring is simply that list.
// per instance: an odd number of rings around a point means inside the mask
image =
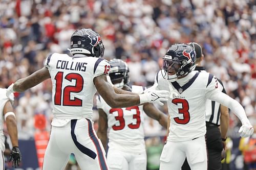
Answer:
[{"label": "large red number 12 on back of COLLINS jersey", "polygon": [[63,95],[63,101],[62,106],[82,106],[82,100],[74,97],[73,100],[70,99],[70,94],[72,93],[78,93],[82,91],[83,88],[83,78],[81,75],[77,73],[70,73],[68,74],[65,79],[72,82],[72,80],[75,80],[74,86],[66,86],[63,88],[62,92],[62,86],[63,86],[63,72],[59,71],[55,78],[56,84],[55,84],[55,95],[54,95],[54,104],[55,105],[61,105],[61,96]]}]

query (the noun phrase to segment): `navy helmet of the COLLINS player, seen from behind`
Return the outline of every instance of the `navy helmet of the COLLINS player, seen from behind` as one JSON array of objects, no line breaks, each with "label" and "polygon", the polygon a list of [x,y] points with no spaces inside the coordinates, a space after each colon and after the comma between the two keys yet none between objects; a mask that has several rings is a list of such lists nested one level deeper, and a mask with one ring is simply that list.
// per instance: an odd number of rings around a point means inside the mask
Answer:
[{"label": "navy helmet of the COLLINS player, seen from behind", "polygon": [[92,29],[79,29],[70,39],[70,53],[85,54],[91,57],[103,57],[104,45],[99,34]]}]

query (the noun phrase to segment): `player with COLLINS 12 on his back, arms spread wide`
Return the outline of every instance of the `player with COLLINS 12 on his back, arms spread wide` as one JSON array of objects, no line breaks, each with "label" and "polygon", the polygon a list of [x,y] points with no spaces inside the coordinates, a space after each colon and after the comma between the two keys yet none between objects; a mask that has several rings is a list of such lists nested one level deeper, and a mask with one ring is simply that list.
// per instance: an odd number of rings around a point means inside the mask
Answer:
[{"label": "player with COLLINS 12 on his back, arms spread wide", "polygon": [[[42,169],[65,168],[74,153],[81,169],[108,169],[105,152],[93,129],[93,96],[96,91],[112,107],[129,107],[147,102],[166,101],[167,91],[139,95],[113,88],[107,81],[109,62],[98,33],[79,29],[71,36],[71,54],[51,54],[45,66],[8,87],[6,95],[23,92],[51,78],[52,129]],[[118,94],[124,93],[124,94]]]}]

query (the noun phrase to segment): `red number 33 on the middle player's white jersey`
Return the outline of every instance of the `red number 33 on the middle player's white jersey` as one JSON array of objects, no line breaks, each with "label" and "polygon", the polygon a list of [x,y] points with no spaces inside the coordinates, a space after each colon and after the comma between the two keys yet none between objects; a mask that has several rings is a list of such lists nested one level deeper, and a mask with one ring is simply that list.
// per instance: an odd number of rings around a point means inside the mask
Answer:
[{"label": "red number 33 on the middle player's white jersey", "polygon": [[[136,114],[133,115],[133,118],[136,119],[136,124],[129,124],[128,127],[131,128],[131,129],[138,129],[140,127],[140,110],[139,110],[139,107],[138,106],[132,106],[132,107],[127,107],[125,110],[136,110]],[[112,126],[112,128],[115,130],[115,131],[118,131],[118,130],[122,130],[125,126],[125,122],[124,122],[124,118],[123,118],[123,109],[121,108],[112,108],[110,109],[110,114],[112,114],[113,112],[117,111],[118,115],[115,116],[115,119],[119,121],[119,126],[117,125],[114,125]]]}]

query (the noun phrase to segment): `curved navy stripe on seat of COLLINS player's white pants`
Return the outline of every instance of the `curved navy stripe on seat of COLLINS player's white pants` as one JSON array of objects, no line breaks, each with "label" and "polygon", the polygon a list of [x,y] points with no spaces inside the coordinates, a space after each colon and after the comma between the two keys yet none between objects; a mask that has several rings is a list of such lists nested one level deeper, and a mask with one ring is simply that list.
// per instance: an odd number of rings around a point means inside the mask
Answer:
[{"label": "curved navy stripe on seat of COLLINS player's white pants", "polygon": [[81,151],[83,154],[86,154],[87,156],[95,159],[96,158],[96,153],[93,152],[92,150],[90,150],[89,148],[86,148],[84,147],[81,143],[79,143],[77,141],[77,138],[76,138],[76,135],[75,135],[75,127],[76,127],[76,122],[77,122],[77,119],[72,119],[71,120],[71,136],[72,136],[72,139],[76,145],[76,147],[78,148],[79,151]]}]

